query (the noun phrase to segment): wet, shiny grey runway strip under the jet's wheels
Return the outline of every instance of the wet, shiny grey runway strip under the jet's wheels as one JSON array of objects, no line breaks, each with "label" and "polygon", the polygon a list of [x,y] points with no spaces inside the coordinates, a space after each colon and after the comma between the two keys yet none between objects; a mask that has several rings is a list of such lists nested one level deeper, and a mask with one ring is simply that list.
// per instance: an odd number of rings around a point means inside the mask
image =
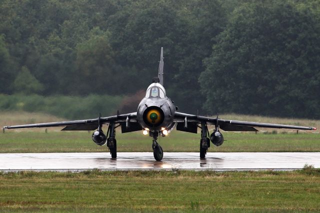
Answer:
[{"label": "wet, shiny grey runway strip under the jet's wheels", "polygon": [[320,152],[208,152],[206,159],[199,159],[198,152],[164,152],[161,161],[154,160],[152,152],[118,152],[116,159],[108,152],[0,154],[0,171],[294,170],[305,163],[320,167]]}]

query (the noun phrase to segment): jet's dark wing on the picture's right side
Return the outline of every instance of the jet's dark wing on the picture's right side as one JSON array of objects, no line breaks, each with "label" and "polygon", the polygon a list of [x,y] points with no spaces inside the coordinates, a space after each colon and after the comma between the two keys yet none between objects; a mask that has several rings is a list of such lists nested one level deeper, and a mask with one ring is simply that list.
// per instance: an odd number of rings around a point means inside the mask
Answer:
[{"label": "jet's dark wing on the picture's right side", "polygon": [[[205,122],[207,124],[215,124],[217,118],[205,117],[194,114],[186,114],[181,112],[174,113],[175,122]],[[303,129],[303,130],[315,130],[315,127],[309,126],[296,126],[296,125],[283,125],[273,123],[260,123],[260,122],[248,122],[240,120],[224,120],[218,118],[219,127],[225,131],[257,131],[254,127],[264,128],[289,128],[289,129]]]}]

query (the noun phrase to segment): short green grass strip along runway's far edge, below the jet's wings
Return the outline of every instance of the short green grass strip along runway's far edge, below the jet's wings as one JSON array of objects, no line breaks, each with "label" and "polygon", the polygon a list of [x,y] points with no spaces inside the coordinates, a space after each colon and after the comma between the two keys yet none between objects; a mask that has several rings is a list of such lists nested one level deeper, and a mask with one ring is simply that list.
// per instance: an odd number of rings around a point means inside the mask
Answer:
[{"label": "short green grass strip along runway's far edge, below the jet's wings", "polygon": [[[211,144],[208,151],[320,151],[320,135],[315,133],[234,133],[224,132],[221,146]],[[141,132],[116,134],[118,151],[152,151],[151,137]],[[164,151],[199,151],[200,135],[172,131],[161,137]],[[104,152],[88,132],[11,132],[0,133],[0,152]]]}]

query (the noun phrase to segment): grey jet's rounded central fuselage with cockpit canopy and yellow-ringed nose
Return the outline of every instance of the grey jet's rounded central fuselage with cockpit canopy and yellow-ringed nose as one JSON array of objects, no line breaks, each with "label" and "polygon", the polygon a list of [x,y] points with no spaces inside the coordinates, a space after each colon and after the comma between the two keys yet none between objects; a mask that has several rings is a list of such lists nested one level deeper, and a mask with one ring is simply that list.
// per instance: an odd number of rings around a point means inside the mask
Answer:
[{"label": "grey jet's rounded central fuselage with cockpit canopy and yellow-ringed nose", "polygon": [[[168,132],[174,128],[175,105],[166,96],[164,87],[158,83],[151,83],[146,89],[145,97],[137,108],[137,120],[143,129],[151,132]],[[150,134],[151,135],[151,134]]]}]

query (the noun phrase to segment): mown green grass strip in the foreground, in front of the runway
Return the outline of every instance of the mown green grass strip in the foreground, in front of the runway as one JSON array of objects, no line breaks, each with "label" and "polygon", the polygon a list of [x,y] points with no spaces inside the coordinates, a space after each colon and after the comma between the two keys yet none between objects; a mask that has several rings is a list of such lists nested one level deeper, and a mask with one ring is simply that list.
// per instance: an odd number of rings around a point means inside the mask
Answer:
[{"label": "mown green grass strip in the foreground, in front of the runway", "polygon": [[0,173],[0,211],[320,211],[320,170]]}]

